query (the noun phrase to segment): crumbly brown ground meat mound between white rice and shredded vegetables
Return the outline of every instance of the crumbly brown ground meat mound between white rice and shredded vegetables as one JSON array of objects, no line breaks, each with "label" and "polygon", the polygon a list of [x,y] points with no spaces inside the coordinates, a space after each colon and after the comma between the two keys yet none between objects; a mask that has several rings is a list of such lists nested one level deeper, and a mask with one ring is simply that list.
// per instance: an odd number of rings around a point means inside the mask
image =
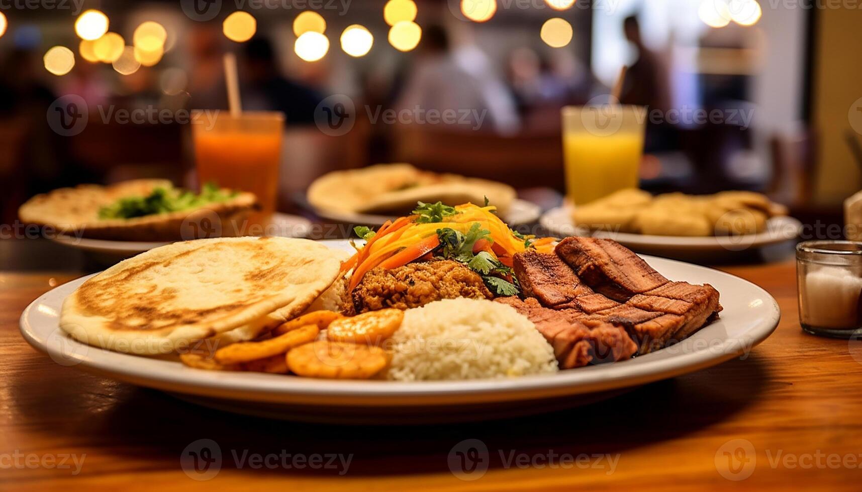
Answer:
[{"label": "crumbly brown ground meat mound between white rice and shredded vegetables", "polygon": [[491,299],[482,277],[452,260],[409,263],[390,270],[373,268],[349,293],[354,314],[382,308],[419,308],[440,299]]}]

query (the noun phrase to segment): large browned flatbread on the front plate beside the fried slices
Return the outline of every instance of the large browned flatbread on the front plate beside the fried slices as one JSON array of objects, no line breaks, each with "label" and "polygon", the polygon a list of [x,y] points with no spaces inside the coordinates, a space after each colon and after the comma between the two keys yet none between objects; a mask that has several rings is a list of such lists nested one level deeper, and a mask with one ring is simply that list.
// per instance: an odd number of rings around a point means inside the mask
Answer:
[{"label": "large browned flatbread on the front plate beside the fried slices", "polygon": [[84,282],[59,326],[117,352],[168,353],[231,332],[247,339],[309,307],[340,261],[311,240],[222,238],[155,248]]}]

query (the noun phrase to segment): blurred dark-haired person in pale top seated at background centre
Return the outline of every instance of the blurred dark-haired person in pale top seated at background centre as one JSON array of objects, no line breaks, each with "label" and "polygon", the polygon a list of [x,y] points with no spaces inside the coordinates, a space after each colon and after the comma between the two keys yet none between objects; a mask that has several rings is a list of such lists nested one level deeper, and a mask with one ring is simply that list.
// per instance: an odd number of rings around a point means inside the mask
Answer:
[{"label": "blurred dark-haired person in pale top seated at background centre", "polygon": [[[459,121],[453,127],[490,127],[498,134],[515,133],[520,128],[515,100],[496,72],[488,56],[475,44],[451,49],[446,29],[430,25],[422,33],[416,63],[396,107],[399,111],[454,111]],[[470,125],[460,121],[468,111],[472,120],[478,115],[479,121],[471,121]]]}]

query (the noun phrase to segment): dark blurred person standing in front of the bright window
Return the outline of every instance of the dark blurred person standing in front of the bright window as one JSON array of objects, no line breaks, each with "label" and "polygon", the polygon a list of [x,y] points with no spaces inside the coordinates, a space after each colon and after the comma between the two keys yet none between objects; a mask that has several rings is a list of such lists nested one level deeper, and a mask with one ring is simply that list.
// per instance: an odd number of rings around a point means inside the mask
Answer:
[{"label": "dark blurred person standing in front of the bright window", "polygon": [[646,45],[640,35],[640,22],[636,16],[628,16],[623,21],[623,30],[628,42],[638,51],[638,59],[628,67],[622,84],[620,102],[648,106],[650,109],[666,111],[670,109],[671,97],[668,89],[667,73],[657,53]]}]

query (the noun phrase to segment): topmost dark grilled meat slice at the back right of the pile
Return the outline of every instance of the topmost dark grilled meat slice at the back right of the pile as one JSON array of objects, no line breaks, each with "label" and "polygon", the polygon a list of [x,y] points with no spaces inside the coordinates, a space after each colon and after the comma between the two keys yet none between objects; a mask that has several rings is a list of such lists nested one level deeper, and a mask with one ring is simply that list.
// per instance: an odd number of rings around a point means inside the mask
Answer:
[{"label": "topmost dark grilled meat slice at the back right of the pile", "polygon": [[643,259],[613,240],[569,237],[557,254],[584,283],[618,302],[661,287],[668,280]]}]

